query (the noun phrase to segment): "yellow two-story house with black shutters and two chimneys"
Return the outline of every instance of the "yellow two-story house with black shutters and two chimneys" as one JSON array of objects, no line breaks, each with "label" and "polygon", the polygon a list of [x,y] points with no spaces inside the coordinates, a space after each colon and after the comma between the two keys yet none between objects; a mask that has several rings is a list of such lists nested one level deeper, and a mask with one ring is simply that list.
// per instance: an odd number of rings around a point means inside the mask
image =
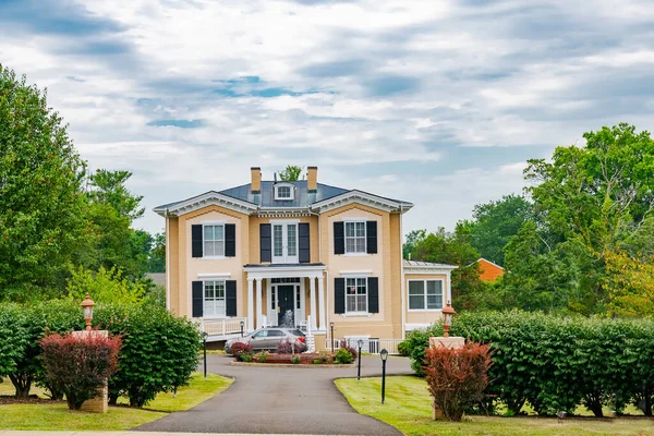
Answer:
[{"label": "yellow two-story house with black shutters and two chimneys", "polygon": [[251,181],[159,206],[166,301],[213,335],[296,326],[331,339],[402,339],[441,315],[451,265],[402,261],[413,205],[306,180]]}]

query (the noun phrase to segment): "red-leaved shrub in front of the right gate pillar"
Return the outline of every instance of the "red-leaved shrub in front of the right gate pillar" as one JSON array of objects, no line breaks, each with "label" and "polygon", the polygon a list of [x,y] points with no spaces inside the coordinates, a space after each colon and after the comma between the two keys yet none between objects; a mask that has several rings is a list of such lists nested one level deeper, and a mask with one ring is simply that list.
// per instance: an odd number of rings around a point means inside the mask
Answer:
[{"label": "red-leaved shrub in front of the right gate pillar", "polygon": [[424,363],[429,392],[449,421],[461,421],[465,410],[483,400],[493,365],[488,346],[428,349]]}]

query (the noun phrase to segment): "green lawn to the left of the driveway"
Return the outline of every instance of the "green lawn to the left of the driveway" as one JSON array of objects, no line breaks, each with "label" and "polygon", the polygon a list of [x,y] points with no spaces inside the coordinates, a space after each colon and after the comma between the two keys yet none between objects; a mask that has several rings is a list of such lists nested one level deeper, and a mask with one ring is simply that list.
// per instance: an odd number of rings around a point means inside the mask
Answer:
[{"label": "green lawn to the left of the driveway", "polygon": [[[209,374],[205,380],[195,374],[190,385],[172,393],[159,393],[147,408],[110,407],[106,414],[70,411],[64,402],[34,404],[0,404],[0,429],[31,431],[124,431],[166,416],[170,412],[189,410],[227,389],[232,379]],[[13,386],[0,384],[0,395],[13,395]],[[33,393],[44,395],[41,389]],[[119,400],[119,403],[126,399]]]}]

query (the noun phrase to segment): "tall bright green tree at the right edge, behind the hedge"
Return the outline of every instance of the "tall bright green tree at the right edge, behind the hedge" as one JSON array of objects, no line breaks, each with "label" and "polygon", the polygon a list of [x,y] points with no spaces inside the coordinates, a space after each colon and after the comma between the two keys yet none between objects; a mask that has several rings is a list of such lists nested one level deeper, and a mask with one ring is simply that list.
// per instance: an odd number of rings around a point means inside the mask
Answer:
[{"label": "tall bright green tree at the right edge, behind the hedge", "polygon": [[528,189],[537,220],[561,241],[550,250],[568,245],[569,266],[582,278],[570,283],[570,308],[604,313],[609,304],[605,254],[634,243],[654,250],[654,241],[641,235],[654,209],[654,141],[626,123],[583,136],[585,147],[558,147],[552,161],[530,160],[525,178],[537,182]]}]

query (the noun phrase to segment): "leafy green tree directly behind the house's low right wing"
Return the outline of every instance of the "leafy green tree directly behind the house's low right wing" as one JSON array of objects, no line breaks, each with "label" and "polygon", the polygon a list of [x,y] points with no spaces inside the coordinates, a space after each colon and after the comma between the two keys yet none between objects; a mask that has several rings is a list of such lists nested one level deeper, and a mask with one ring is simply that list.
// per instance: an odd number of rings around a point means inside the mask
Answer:
[{"label": "leafy green tree directly behind the house's low right wing", "polygon": [[413,258],[415,261],[457,265],[451,272],[452,304],[458,308],[475,305],[475,295],[484,288],[480,280],[479,252],[470,244],[469,235],[462,229],[447,232],[439,228],[435,233],[423,232],[415,238]]}]

